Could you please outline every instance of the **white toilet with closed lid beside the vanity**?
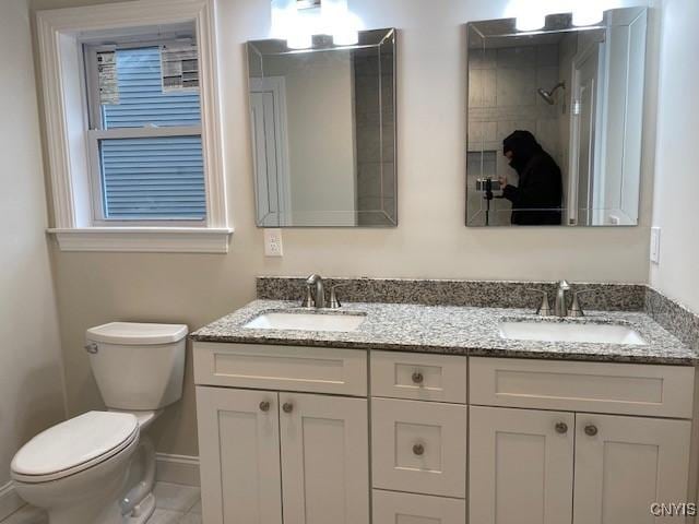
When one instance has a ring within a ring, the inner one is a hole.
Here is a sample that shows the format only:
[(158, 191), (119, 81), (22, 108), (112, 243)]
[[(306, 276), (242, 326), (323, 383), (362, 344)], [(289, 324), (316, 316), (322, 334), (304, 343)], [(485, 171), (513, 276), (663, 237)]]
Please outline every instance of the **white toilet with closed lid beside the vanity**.
[(187, 333), (181, 324), (129, 322), (87, 330), (85, 349), (108, 410), (37, 434), (11, 466), (17, 493), (46, 509), (49, 524), (142, 524), (151, 516), (155, 452), (142, 431), (181, 397)]

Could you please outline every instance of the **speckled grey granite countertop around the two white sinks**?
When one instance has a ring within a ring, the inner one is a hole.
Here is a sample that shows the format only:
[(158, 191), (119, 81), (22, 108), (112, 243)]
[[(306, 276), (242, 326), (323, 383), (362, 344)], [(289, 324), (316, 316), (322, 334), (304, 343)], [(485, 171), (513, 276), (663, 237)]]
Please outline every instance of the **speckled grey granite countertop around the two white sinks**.
[[(661, 327), (648, 314), (589, 311), (584, 318), (537, 317), (531, 310), (419, 306), (411, 303), (345, 303), (340, 310), (317, 314), (364, 314), (356, 331), (258, 330), (244, 325), (271, 311), (313, 312), (297, 301), (254, 300), (191, 334), (198, 342), (283, 344), (360, 349), (383, 349), (446, 355), (519, 357), (694, 366), (699, 355)], [(500, 321), (579, 322), (624, 324), (636, 330), (647, 345), (559, 343), (505, 340)]]

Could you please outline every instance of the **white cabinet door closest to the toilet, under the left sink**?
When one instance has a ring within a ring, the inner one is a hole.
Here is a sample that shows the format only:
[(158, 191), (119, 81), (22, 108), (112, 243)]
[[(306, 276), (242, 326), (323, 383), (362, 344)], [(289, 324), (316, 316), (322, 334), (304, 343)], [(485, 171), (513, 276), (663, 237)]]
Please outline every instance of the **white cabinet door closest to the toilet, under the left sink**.
[(279, 395), (197, 388), (203, 522), (282, 524)]

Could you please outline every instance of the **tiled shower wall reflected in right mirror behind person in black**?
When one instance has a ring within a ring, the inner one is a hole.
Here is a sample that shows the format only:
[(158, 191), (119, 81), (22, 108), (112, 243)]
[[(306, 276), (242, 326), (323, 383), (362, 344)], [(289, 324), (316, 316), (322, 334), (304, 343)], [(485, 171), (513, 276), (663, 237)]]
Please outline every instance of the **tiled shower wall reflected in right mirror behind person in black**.
[[(517, 174), (502, 156), (502, 140), (512, 131), (531, 131), (559, 164), (564, 154), (559, 139), (559, 117), (562, 114), (562, 93), (550, 106), (536, 91), (550, 90), (558, 83), (558, 47), (530, 46), (503, 49), (470, 50), (469, 57), (469, 151), (496, 151), (496, 175), (506, 176), (517, 184)], [(473, 156), (473, 155), (471, 155)], [(474, 191), (481, 174), (470, 169), (469, 210), (484, 207), (482, 195)], [(495, 200), (490, 223), (509, 224), (509, 201)], [(485, 223), (482, 216), (479, 223)], [(478, 223), (474, 224), (478, 225)]]

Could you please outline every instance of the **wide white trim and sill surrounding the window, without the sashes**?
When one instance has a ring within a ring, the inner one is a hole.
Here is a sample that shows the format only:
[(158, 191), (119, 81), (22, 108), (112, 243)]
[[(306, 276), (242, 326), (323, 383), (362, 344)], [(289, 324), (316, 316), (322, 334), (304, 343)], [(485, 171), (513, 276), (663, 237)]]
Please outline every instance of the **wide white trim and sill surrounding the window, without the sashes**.
[[(55, 234), (61, 250), (228, 251), (214, 0), (138, 0), (39, 11), (36, 16), (44, 84), (46, 140)], [(93, 227), (88, 107), (81, 38), (91, 32), (194, 22), (201, 78), (202, 150), (206, 183), (203, 227)]]

